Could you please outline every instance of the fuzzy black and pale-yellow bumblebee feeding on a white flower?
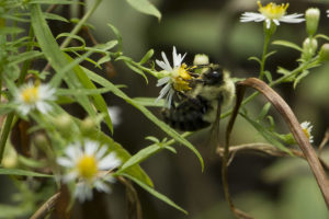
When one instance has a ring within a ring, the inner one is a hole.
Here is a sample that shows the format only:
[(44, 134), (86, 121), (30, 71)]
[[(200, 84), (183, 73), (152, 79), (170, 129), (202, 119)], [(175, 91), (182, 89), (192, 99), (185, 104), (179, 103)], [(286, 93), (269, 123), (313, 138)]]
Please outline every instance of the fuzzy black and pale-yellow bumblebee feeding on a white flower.
[[(170, 108), (163, 108), (163, 120), (174, 129), (194, 131), (212, 124), (217, 125), (220, 108), (235, 95), (235, 84), (229, 72), (218, 65), (202, 65), (190, 68), (191, 90), (177, 92)], [(196, 73), (202, 70), (201, 73)]]

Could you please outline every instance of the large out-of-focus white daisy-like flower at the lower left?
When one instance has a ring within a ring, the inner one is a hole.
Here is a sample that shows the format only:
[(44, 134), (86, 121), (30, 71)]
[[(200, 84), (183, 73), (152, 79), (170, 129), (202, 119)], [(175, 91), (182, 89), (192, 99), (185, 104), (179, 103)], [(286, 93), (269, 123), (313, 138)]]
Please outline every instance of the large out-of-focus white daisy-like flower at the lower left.
[(64, 183), (76, 182), (73, 196), (79, 201), (92, 198), (92, 189), (110, 193), (106, 183), (113, 183), (114, 177), (109, 174), (113, 169), (121, 165), (122, 161), (114, 152), (106, 154), (107, 147), (93, 140), (83, 140), (69, 145), (65, 155), (57, 159), (57, 163), (68, 169), (63, 176)]

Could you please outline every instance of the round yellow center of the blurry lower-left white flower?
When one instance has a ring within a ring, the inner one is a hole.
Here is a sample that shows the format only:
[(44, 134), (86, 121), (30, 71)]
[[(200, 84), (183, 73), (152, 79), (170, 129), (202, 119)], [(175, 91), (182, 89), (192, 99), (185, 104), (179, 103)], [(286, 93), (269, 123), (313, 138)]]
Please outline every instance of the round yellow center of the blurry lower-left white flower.
[(79, 175), (92, 180), (98, 173), (98, 162), (93, 155), (83, 154), (78, 161)]

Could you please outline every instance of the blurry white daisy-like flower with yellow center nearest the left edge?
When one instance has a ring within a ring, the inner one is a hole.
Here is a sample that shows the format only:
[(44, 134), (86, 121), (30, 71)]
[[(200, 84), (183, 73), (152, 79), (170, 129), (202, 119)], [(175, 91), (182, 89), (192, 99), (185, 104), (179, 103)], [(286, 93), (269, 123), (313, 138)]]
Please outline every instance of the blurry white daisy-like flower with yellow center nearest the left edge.
[(48, 84), (36, 84), (29, 82), (15, 91), (14, 103), (19, 113), (27, 115), (31, 111), (37, 110), (43, 114), (52, 110), (48, 101), (55, 101), (56, 89)]

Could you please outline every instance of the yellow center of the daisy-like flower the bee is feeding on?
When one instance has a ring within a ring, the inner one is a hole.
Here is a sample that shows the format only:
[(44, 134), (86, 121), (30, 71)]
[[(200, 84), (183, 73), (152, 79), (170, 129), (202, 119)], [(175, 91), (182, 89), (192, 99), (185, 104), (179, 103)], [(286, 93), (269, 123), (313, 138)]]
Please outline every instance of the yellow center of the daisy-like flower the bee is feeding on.
[(188, 91), (191, 90), (189, 80), (192, 79), (189, 71), (186, 70), (188, 66), (182, 64), (181, 67), (177, 70), (177, 76), (173, 77), (173, 89), (177, 91)]

